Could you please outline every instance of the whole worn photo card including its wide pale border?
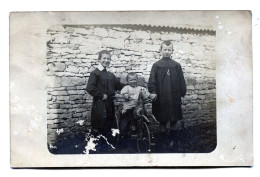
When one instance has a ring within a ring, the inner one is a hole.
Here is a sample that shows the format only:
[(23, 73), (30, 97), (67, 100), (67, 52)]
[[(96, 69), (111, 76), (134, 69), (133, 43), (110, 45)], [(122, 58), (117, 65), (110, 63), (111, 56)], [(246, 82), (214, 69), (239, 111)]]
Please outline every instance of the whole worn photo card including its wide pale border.
[(11, 166), (252, 165), (251, 20), (10, 13)]

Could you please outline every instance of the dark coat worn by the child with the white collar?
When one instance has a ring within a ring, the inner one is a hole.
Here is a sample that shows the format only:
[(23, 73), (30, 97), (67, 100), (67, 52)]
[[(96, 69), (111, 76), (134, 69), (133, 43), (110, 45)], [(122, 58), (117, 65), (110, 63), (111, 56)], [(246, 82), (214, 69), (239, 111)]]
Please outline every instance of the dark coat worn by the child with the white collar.
[[(123, 85), (114, 74), (95, 69), (90, 73), (87, 92), (93, 96), (91, 108), (91, 125), (93, 129), (109, 129), (114, 121), (115, 110), (113, 96)], [(106, 94), (108, 98), (103, 99)]]

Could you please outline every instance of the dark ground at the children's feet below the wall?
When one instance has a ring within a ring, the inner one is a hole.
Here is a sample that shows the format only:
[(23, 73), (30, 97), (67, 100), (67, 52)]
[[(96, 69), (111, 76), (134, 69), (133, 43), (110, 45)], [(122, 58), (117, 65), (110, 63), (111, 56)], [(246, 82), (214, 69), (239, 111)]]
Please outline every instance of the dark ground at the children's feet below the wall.
[[(209, 153), (217, 145), (216, 124), (203, 124), (172, 131), (171, 134), (152, 132), (152, 146), (149, 152), (142, 153)], [(89, 154), (128, 154), (139, 153), (135, 139), (116, 143), (113, 138), (98, 137), (93, 141), (96, 146)], [(53, 154), (84, 154), (90, 139), (78, 134), (76, 138), (48, 146)], [(92, 144), (93, 145), (93, 144)], [(89, 147), (89, 146), (88, 146)], [(93, 147), (93, 146), (92, 146)]]

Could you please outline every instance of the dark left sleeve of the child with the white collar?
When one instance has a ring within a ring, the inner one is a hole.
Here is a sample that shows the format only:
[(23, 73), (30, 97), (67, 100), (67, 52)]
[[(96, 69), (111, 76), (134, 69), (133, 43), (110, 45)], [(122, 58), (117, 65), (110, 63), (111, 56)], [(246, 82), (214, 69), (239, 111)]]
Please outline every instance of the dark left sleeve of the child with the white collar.
[(94, 72), (90, 73), (88, 84), (87, 84), (87, 92), (96, 98), (103, 98), (103, 93), (100, 92), (97, 88), (98, 75)]

